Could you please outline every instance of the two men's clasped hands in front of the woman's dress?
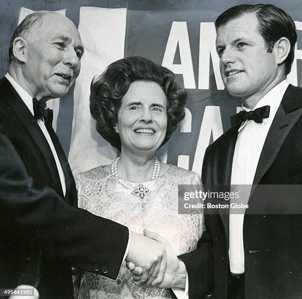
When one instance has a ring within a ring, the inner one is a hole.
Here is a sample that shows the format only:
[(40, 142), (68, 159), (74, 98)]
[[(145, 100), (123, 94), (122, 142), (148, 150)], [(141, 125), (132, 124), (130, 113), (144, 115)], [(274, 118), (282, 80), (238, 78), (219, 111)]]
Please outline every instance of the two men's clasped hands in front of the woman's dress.
[(155, 232), (145, 229), (142, 235), (131, 231), (130, 247), (125, 260), (136, 285), (186, 287), (185, 264), (177, 258), (170, 243)]

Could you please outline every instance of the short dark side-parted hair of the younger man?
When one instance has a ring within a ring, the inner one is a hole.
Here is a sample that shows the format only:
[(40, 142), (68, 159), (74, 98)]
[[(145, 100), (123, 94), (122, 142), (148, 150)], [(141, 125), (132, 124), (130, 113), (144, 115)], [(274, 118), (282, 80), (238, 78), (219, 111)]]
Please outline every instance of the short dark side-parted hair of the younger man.
[(295, 57), (297, 41), (296, 26), (293, 19), (281, 8), (273, 4), (241, 4), (233, 6), (223, 12), (215, 21), (216, 30), (228, 21), (241, 17), (245, 13), (256, 13), (259, 31), (265, 40), (267, 52), (271, 53), (275, 42), (286, 37), (290, 41), (291, 50), (284, 60), (285, 74), (291, 72)]

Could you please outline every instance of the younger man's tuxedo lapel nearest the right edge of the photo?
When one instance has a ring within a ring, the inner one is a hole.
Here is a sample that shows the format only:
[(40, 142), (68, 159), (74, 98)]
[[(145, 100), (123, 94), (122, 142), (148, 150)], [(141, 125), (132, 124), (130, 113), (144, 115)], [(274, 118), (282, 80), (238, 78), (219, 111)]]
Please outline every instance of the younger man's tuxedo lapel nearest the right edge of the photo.
[[(268, 131), (256, 169), (253, 185), (258, 185), (276, 159), (287, 135), (302, 115), (301, 91), (289, 85)], [(252, 189), (250, 198), (254, 191)]]

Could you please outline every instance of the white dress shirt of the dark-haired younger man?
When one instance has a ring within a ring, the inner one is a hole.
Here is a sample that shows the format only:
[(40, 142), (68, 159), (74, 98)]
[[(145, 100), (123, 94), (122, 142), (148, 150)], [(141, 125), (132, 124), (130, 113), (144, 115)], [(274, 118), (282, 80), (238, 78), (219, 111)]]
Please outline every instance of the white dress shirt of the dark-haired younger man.
[[(269, 105), (269, 117), (264, 118), (262, 123), (246, 120), (238, 129), (232, 163), (231, 185), (248, 185), (246, 187), (248, 192), (245, 193), (247, 195), (246, 201), (250, 195), (264, 141), (288, 85), (289, 83), (283, 80), (254, 107), (253, 110)], [(244, 106), (243, 110), (250, 111)], [(230, 271), (235, 274), (244, 273), (243, 220), (244, 214), (230, 213), (229, 215), (229, 266)]]

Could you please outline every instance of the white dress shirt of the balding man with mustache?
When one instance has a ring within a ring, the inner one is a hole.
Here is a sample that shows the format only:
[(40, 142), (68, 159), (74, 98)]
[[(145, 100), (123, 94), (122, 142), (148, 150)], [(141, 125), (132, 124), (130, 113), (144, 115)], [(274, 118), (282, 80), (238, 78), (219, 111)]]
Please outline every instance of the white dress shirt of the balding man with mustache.
[[(20, 98), (25, 103), (25, 105), (27, 106), (29, 111), (34, 115), (33, 97), (30, 96), (8, 73), (5, 75), (5, 77), (10, 82), (10, 84), (13, 86), (13, 88), (16, 90), (16, 92), (19, 94)], [(48, 133), (46, 127), (45, 127), (43, 118), (38, 119), (37, 122), (38, 122), (38, 125), (39, 125), (40, 129), (42, 130), (48, 144), (49, 144), (49, 147), (52, 151), (53, 157), (56, 161), (56, 165), (57, 165), (57, 168), (58, 168), (60, 181), (61, 181), (61, 185), (62, 185), (63, 194), (65, 196), (65, 194), (66, 194), (66, 181), (65, 181), (65, 176), (64, 176), (62, 166), (61, 166), (59, 158), (58, 158), (58, 154), (57, 154), (57, 152), (56, 152), (56, 150), (53, 146), (53, 143), (51, 141), (49, 133)]]

